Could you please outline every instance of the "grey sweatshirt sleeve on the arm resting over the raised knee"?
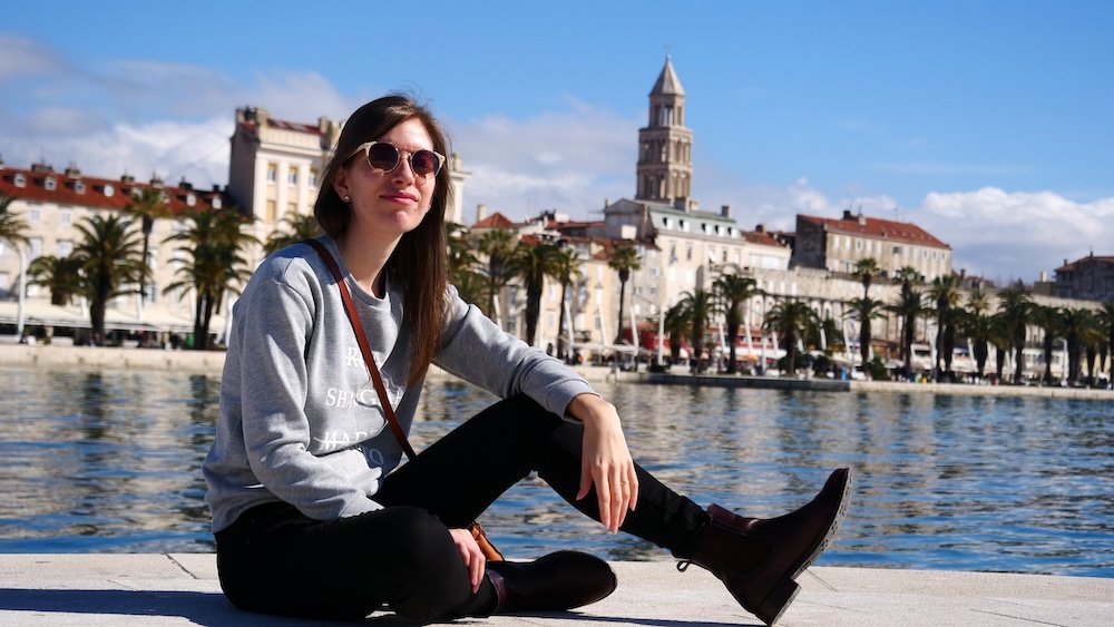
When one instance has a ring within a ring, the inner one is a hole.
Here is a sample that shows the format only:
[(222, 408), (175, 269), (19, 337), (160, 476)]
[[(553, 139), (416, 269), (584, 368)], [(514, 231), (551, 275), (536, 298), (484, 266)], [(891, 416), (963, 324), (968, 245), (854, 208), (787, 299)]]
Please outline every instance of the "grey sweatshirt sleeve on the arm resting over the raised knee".
[(539, 349), (499, 329), (455, 287), (446, 301), (443, 343), (433, 362), (500, 398), (526, 394), (553, 413), (565, 415), (579, 394), (594, 394), (587, 381)]

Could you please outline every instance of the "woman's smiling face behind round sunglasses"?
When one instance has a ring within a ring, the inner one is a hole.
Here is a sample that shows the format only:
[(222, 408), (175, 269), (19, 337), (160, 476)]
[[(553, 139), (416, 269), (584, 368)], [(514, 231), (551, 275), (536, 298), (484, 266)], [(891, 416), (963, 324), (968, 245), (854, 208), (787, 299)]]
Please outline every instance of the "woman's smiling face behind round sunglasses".
[(409, 157), (417, 150), (432, 150), (433, 140), (418, 118), (403, 120), (373, 139), (399, 149), (398, 167), (388, 173), (374, 169), (361, 150), (336, 174), (333, 188), (341, 198), (351, 197), (353, 235), (397, 239), (421, 224), (429, 212), (436, 177), (416, 175)]

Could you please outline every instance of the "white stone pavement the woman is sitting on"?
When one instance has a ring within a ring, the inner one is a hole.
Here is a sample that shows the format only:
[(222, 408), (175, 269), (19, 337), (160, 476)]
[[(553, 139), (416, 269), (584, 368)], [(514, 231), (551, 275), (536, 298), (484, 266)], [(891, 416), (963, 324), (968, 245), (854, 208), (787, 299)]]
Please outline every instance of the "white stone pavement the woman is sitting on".
[[(579, 610), (457, 625), (701, 627), (760, 625), (711, 575), (674, 564), (613, 562), (619, 587)], [(814, 567), (779, 625), (1114, 625), (1114, 579)], [(389, 613), (372, 624), (399, 624)], [(312, 625), (253, 615), (221, 594), (211, 553), (0, 555), (0, 626)]]

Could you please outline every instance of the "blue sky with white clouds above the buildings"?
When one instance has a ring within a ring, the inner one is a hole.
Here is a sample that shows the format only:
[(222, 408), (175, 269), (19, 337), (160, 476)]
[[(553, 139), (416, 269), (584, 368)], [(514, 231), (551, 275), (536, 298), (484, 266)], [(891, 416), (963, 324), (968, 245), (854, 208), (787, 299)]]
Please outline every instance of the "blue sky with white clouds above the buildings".
[(0, 155), (223, 185), (237, 106), (342, 119), (402, 89), (449, 127), (469, 213), (595, 219), (634, 194), (668, 51), (693, 195), (745, 228), (861, 208), (997, 281), (1114, 254), (1111, 2), (321, 7), (6, 7)]

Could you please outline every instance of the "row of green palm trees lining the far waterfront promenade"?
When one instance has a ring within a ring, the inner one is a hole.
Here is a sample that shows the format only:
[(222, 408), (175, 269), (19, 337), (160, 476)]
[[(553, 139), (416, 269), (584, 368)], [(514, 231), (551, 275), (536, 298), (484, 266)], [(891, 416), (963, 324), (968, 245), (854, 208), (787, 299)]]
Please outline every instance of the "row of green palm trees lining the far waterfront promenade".
[[(9, 212), (13, 198), (0, 197), (0, 242), (12, 245), (27, 244), (27, 224)], [(28, 273), (31, 283), (50, 290), (56, 305), (71, 304), (85, 298), (89, 306), (92, 339), (105, 336), (105, 312), (108, 303), (118, 296), (144, 294), (150, 282), (150, 268), (145, 263), (150, 248), (150, 236), (156, 219), (174, 217), (184, 228), (164, 239), (174, 243), (176, 259), (175, 281), (163, 287), (163, 293), (192, 291), (194, 302), (194, 347), (209, 347), (209, 323), (221, 313), (227, 294), (237, 294), (251, 275), (244, 251), (251, 245), (263, 245), (265, 253), (273, 253), (286, 245), (320, 233), (312, 215), (291, 214), (283, 218), (265, 243), (258, 242), (247, 231), (251, 218), (235, 207), (204, 208), (182, 212), (170, 216), (162, 193), (144, 189), (133, 197), (123, 214), (96, 214), (77, 225), (80, 241), (66, 257), (40, 256), (31, 262)], [(460, 296), (502, 323), (506, 303), (498, 302), (508, 285), (521, 286), (526, 294), (524, 340), (534, 344), (541, 313), (541, 295), (546, 280), (561, 286), (558, 322), (557, 355), (569, 357), (573, 321), (568, 320), (569, 292), (578, 283), (584, 262), (576, 249), (561, 242), (549, 242), (531, 236), (519, 237), (510, 229), (491, 229), (478, 237), (470, 237), (461, 225), (447, 224), (450, 281)], [(607, 253), (607, 265), (619, 280), (619, 303), (616, 319), (615, 343), (624, 341), (626, 285), (633, 272), (641, 270), (641, 258), (633, 246), (618, 245)], [(1104, 303), (1098, 310), (1087, 307), (1049, 307), (1032, 298), (1018, 282), (999, 290), (996, 297), (979, 290), (964, 291), (957, 275), (939, 276), (926, 282), (912, 267), (898, 270), (891, 282), (899, 286), (892, 302), (870, 296), (870, 287), (882, 273), (876, 259), (859, 262), (854, 275), (863, 286), (862, 296), (848, 302), (847, 316), (859, 323), (859, 351), (864, 368), (870, 368), (870, 346), (873, 340), (871, 322), (887, 315), (901, 321), (900, 350), (903, 370), (913, 370), (916, 329), (922, 320), (936, 325), (936, 360), (931, 378), (936, 381), (954, 380), (952, 354), (958, 339), (970, 342), (970, 352), (978, 376), (985, 376), (989, 347), (995, 347), (995, 372), (999, 380), (1007, 354), (1013, 354), (1014, 381), (1022, 381), (1023, 350), (1027, 329), (1043, 331), (1045, 372), (1043, 380), (1052, 382), (1052, 355), (1055, 342), (1066, 343), (1067, 380), (1075, 384), (1093, 381), (1096, 364), (1105, 363), (1114, 354), (1114, 302)], [(682, 345), (691, 346), (696, 368), (707, 344), (709, 330), (721, 320), (729, 352), (726, 373), (736, 372), (735, 337), (745, 323), (745, 307), (755, 296), (766, 295), (750, 276), (729, 266), (712, 282), (709, 290), (684, 292), (677, 303), (659, 313), (665, 319), (662, 327), (670, 340), (673, 362), (680, 360)], [(844, 340), (840, 324), (821, 319), (807, 302), (798, 298), (775, 297), (775, 303), (763, 315), (762, 332), (775, 334), (785, 351), (784, 371), (795, 372), (799, 351), (810, 347), (827, 356), (842, 351)], [(996, 301), (996, 306), (991, 306)], [(632, 329), (632, 333), (637, 330)], [(873, 360), (877, 368), (878, 360)], [(1084, 374), (1084, 370), (1086, 373)], [(881, 373), (877, 373), (881, 374)]]

